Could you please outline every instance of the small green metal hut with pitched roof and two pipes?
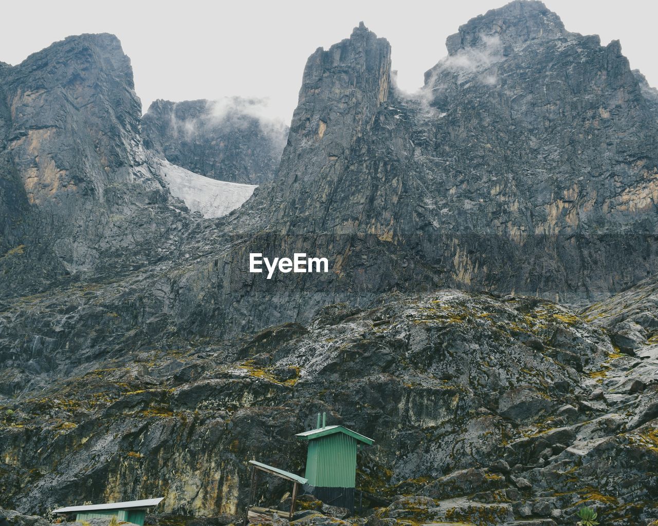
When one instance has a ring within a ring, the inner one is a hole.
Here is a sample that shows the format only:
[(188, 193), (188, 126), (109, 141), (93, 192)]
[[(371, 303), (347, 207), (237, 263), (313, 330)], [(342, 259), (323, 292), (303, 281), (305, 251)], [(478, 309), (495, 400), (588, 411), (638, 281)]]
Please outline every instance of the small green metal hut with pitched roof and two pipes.
[(332, 506), (354, 510), (357, 478), (357, 450), (361, 444), (373, 444), (372, 439), (342, 425), (326, 425), (326, 414), (318, 414), (318, 427), (295, 435), (309, 442), (305, 477), (307, 491)]

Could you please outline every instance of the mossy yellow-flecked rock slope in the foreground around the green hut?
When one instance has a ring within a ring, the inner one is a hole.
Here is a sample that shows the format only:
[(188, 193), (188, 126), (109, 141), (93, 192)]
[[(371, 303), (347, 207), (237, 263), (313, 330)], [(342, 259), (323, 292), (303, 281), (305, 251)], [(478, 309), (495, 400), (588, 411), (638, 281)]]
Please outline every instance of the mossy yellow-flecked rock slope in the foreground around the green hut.
[(358, 485), (379, 519), (572, 524), (588, 504), (605, 524), (647, 524), (658, 356), (643, 345), (620, 354), (607, 331), (545, 300), (449, 290), (328, 306), (309, 325), (230, 343), (172, 335), (43, 389), (14, 384), (2, 504), (162, 494), (161, 512), (236, 515), (245, 462), (301, 471), (293, 435), (324, 410), (376, 441)]

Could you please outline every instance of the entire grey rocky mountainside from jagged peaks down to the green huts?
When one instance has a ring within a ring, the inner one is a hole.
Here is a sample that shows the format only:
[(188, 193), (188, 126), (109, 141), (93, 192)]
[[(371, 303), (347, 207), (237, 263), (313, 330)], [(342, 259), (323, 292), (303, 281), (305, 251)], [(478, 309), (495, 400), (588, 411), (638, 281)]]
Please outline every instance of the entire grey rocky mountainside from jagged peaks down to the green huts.
[(534, 1), (447, 51), (403, 93), (364, 24), (318, 49), (261, 172), (257, 120), (142, 119), (116, 37), (0, 65), (0, 506), (235, 521), (326, 411), (368, 511), (300, 526), (658, 519), (656, 91)]

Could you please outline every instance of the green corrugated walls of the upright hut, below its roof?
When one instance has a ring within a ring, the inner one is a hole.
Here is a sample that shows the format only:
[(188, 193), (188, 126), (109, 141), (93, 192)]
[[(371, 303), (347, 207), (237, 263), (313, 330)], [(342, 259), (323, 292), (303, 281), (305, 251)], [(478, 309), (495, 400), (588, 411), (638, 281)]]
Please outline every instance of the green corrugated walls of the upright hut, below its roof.
[(357, 441), (334, 433), (309, 441), (306, 478), (316, 487), (353, 488), (357, 474)]

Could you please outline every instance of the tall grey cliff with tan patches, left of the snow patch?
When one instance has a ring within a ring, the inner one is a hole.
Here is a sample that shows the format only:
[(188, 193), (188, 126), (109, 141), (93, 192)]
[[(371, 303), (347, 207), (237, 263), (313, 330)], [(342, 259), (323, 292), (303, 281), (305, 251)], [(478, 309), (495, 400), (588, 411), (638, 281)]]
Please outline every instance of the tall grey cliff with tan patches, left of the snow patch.
[(147, 166), (118, 39), (68, 37), (1, 74), (3, 221), (13, 225), (3, 226), (3, 293), (157, 260), (181, 219)]

